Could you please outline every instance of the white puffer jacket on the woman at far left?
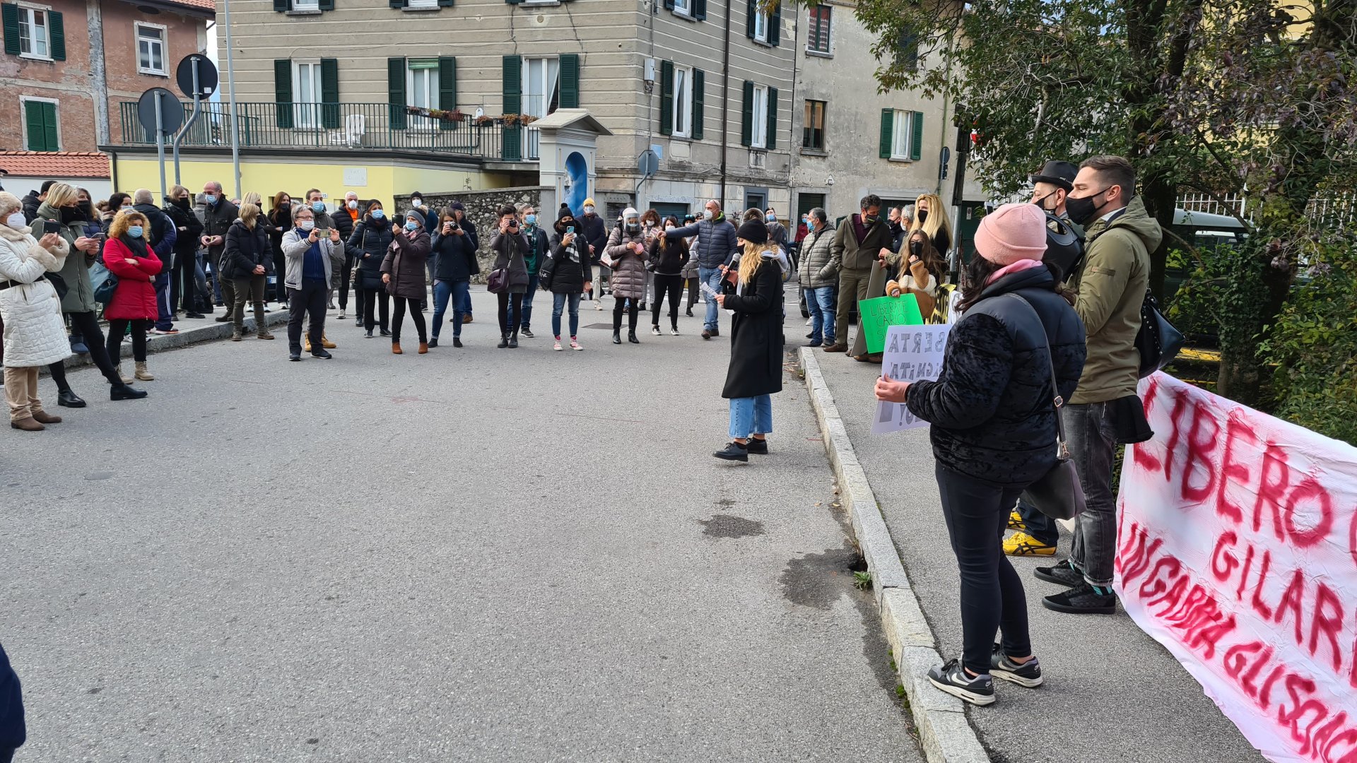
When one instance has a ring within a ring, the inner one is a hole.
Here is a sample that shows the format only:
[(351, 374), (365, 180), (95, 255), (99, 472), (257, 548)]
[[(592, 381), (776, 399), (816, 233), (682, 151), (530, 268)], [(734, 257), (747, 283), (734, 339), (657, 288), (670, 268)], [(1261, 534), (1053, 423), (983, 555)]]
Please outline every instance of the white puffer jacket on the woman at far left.
[[(4, 319), (4, 365), (47, 365), (71, 356), (61, 299), (46, 273), (66, 262), (65, 239), (56, 253), (38, 246), (28, 228), (0, 224), (0, 319)], [(39, 280), (41, 278), (41, 280)]]

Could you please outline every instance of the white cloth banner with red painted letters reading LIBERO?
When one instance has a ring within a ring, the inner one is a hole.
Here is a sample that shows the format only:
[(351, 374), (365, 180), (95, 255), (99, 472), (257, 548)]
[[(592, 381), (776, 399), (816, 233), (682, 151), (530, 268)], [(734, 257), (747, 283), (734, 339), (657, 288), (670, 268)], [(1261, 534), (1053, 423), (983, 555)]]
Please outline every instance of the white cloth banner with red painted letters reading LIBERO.
[(1274, 762), (1357, 762), (1357, 448), (1166, 373), (1126, 448), (1126, 612)]

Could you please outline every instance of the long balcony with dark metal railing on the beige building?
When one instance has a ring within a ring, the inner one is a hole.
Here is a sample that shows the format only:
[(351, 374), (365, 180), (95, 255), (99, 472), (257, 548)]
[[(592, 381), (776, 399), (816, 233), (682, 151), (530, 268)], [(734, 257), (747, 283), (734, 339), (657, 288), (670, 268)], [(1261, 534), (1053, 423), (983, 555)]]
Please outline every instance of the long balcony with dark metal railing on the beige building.
[[(185, 121), (191, 111), (193, 105), (185, 103)], [(389, 103), (237, 102), (236, 119), (243, 149), (373, 149), (491, 162), (520, 162), (525, 155), (536, 159), (532, 128), (456, 111), (430, 113)], [(155, 145), (155, 136), (137, 121), (136, 102), (118, 105), (118, 121), (122, 145)], [(229, 149), (231, 140), (229, 105), (202, 103), (202, 114), (179, 145)]]

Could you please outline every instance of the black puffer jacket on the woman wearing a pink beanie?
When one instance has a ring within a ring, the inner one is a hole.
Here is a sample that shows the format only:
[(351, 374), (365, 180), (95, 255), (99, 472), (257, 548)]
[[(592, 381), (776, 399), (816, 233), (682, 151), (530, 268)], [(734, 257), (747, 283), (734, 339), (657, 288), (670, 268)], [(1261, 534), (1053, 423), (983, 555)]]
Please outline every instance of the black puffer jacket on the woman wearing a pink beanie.
[[(909, 413), (932, 424), (938, 463), (1001, 487), (1026, 487), (1056, 463), (1050, 357), (1067, 401), (1084, 368), (1084, 324), (1045, 267), (1004, 276), (953, 327), (936, 382), (909, 386)], [(1019, 293), (1037, 310), (1006, 293)], [(1044, 337), (1045, 334), (1046, 337)]]

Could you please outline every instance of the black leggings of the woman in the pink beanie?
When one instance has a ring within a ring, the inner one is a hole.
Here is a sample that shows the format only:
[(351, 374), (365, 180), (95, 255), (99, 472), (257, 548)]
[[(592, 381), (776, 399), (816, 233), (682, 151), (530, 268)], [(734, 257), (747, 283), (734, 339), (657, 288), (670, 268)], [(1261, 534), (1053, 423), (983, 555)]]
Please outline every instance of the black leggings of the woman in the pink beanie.
[(1008, 512), (1022, 490), (991, 487), (942, 464), (935, 471), (942, 515), (961, 570), (962, 664), (973, 673), (988, 673), (1000, 629), (1004, 653), (1031, 654), (1027, 595), (1003, 548)]

